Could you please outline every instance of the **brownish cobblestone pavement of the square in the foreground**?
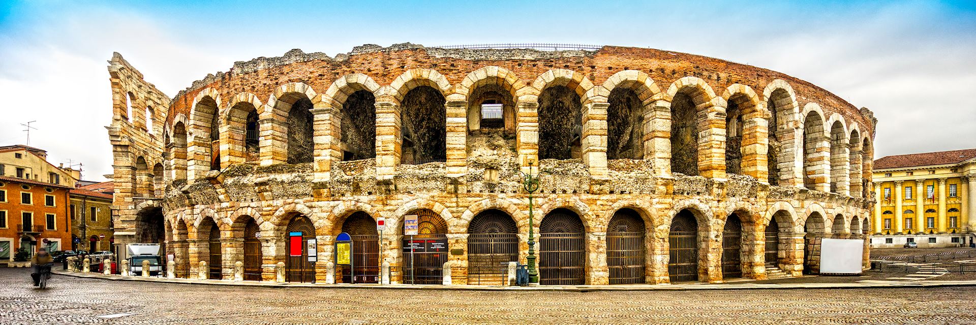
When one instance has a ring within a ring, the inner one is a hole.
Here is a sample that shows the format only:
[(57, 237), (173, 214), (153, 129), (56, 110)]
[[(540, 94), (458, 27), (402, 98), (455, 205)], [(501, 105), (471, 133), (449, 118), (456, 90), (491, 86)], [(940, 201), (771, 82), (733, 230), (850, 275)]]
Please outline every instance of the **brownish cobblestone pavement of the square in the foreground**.
[[(0, 324), (962, 324), (976, 287), (468, 292), (107, 281), (0, 268)], [(131, 313), (118, 318), (100, 315)]]

